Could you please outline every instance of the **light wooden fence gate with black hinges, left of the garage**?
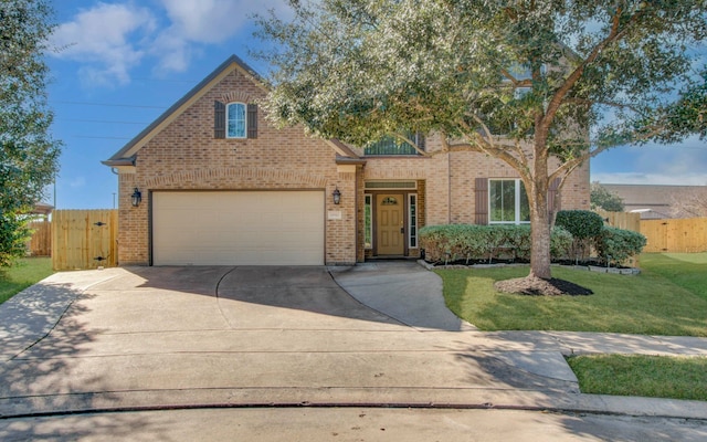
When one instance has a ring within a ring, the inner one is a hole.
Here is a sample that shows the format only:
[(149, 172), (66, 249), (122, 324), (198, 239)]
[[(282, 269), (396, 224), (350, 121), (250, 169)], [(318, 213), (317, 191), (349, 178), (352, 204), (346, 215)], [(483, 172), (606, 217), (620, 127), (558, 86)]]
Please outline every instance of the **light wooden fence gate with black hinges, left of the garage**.
[(117, 210), (54, 210), (52, 266), (86, 270), (117, 265)]

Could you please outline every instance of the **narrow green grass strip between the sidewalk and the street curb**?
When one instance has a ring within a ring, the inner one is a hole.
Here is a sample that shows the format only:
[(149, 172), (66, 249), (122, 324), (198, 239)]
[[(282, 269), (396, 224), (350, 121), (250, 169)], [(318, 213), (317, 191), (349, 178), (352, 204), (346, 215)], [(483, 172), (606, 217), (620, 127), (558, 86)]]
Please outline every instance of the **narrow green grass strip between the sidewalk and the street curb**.
[(572, 356), (567, 359), (582, 392), (707, 400), (707, 358)]

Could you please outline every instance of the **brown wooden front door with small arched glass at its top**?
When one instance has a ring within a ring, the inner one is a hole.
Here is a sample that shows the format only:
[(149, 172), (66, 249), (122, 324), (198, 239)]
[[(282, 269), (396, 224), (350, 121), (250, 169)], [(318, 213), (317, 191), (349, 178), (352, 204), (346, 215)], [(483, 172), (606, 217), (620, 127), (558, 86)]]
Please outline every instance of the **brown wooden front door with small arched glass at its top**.
[(404, 196), (378, 194), (376, 197), (377, 242), (379, 255), (404, 253)]

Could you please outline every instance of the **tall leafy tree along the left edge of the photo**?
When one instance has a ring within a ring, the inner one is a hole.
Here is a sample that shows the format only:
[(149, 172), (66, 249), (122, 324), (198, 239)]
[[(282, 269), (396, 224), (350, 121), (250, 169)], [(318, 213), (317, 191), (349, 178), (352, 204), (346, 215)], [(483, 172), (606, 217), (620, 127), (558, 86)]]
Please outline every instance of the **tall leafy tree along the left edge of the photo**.
[(57, 167), (44, 62), (49, 0), (0, 0), (0, 266), (24, 252), (27, 213)]

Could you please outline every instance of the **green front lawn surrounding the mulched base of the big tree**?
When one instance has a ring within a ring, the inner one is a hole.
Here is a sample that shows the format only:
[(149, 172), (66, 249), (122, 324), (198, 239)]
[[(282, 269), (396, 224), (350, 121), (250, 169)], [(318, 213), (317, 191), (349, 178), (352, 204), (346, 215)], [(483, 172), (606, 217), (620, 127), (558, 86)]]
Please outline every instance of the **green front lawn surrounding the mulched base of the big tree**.
[(483, 330), (566, 330), (707, 337), (707, 253), (641, 256), (637, 276), (553, 267), (590, 296), (498, 293), (494, 282), (528, 267), (437, 270), (457, 316)]

